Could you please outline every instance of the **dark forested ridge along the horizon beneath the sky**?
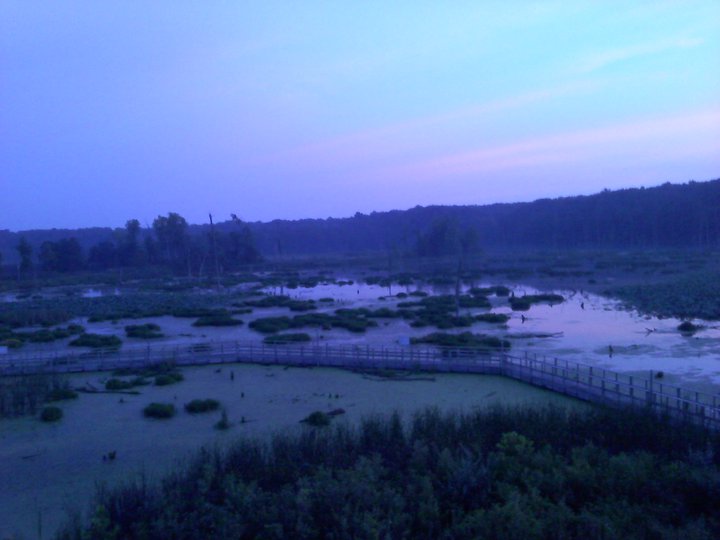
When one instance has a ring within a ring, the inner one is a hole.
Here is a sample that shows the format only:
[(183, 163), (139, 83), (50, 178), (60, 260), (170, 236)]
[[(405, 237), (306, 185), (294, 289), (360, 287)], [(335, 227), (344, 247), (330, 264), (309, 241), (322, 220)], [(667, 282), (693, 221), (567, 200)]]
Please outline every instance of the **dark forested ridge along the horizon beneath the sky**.
[[(720, 179), (487, 206), (429, 206), (351, 218), (190, 225), (169, 213), (152, 226), (0, 231), (0, 264), (71, 272), (163, 264), (211, 273), (272, 257), (471, 249), (720, 246)], [(7, 274), (6, 270), (6, 274)]]

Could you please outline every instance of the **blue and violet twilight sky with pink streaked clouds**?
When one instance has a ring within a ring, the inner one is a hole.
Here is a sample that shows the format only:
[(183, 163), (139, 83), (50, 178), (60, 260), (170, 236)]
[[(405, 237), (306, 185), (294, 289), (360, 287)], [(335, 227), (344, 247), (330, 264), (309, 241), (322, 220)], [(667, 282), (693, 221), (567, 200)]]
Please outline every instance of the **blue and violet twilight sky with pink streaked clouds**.
[(0, 0), (0, 229), (718, 177), (718, 0)]

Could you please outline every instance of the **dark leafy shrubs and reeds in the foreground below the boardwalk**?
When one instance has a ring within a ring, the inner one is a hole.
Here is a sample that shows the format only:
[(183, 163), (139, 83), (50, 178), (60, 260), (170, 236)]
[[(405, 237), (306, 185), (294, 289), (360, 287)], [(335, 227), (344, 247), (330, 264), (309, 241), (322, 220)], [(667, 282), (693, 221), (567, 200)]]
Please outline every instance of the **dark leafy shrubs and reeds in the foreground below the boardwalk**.
[(717, 434), (645, 411), (371, 417), (100, 490), (58, 538), (720, 537)]

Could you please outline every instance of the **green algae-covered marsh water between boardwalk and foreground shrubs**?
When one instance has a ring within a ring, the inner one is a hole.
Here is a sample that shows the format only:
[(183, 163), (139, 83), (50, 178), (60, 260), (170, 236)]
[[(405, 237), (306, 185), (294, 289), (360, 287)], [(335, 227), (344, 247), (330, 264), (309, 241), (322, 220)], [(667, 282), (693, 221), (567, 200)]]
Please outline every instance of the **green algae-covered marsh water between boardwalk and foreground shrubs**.
[[(392, 411), (407, 417), (423, 407), (584, 406), (503, 377), (480, 375), (382, 380), (336, 369), (246, 364), (183, 373), (182, 383), (142, 387), (139, 395), (81, 394), (59, 403), (64, 416), (56, 424), (32, 417), (0, 422), (0, 538), (18, 532), (37, 538), (39, 525), (48, 538), (69, 513), (88, 509), (99, 485), (153, 481), (203, 445), (222, 448), (241, 436), (312, 429), (299, 421), (315, 410), (342, 408), (346, 412), (333, 422), (352, 423)], [(101, 386), (109, 376), (73, 375), (72, 385)], [(182, 410), (184, 403), (205, 398), (217, 399), (227, 409), (233, 424), (229, 430), (213, 428), (218, 412), (192, 415)], [(178, 413), (169, 420), (143, 418), (142, 409), (150, 402), (174, 403)], [(103, 460), (112, 451), (117, 457)]]

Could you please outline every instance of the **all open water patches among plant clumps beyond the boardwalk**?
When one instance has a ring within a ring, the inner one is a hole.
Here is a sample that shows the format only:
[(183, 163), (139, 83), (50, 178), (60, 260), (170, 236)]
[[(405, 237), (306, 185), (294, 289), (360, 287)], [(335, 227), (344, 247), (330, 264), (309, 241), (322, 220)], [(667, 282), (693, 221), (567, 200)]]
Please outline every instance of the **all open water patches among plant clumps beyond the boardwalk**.
[[(344, 280), (350, 284), (321, 283), (315, 287), (269, 287), (267, 294), (285, 294), (297, 300), (320, 300), (332, 298), (332, 303), (318, 302), (319, 313), (332, 313), (339, 308), (397, 308), (403, 301), (418, 300), (404, 297), (413, 291), (431, 295), (454, 294), (453, 286), (410, 285), (391, 287), (368, 285), (360, 281)], [(476, 283), (487, 287), (493, 283)], [(471, 328), (455, 328), (446, 332), (472, 331), (509, 339), (513, 354), (537, 354), (557, 357), (573, 362), (586, 363), (617, 371), (647, 373), (662, 371), (669, 382), (702, 386), (703, 390), (717, 391), (720, 384), (720, 323), (717, 321), (694, 321), (702, 329), (684, 334), (677, 327), (675, 318), (658, 318), (642, 315), (607, 297), (582, 290), (563, 288), (542, 291), (523, 285), (508, 284), (512, 294), (523, 296), (538, 292), (562, 295), (565, 301), (558, 304), (533, 304), (528, 311), (512, 311), (506, 297), (490, 296), (491, 309), (462, 309), (464, 314), (480, 314), (489, 311), (510, 316), (506, 324), (477, 322)], [(463, 292), (470, 287), (464, 285)], [(108, 290), (105, 294), (116, 294)], [(397, 295), (400, 294), (400, 297)], [(74, 322), (83, 324), (88, 332), (115, 334), (124, 341), (123, 347), (172, 346), (198, 341), (243, 341), (260, 343), (263, 335), (248, 328), (247, 323), (260, 317), (292, 316), (296, 313), (283, 307), (255, 308), (251, 314), (239, 315), (246, 324), (241, 327), (202, 327), (192, 325), (194, 319), (171, 316), (137, 319), (132, 321), (103, 321), (89, 323), (86, 319)], [(125, 324), (153, 322), (158, 324), (165, 337), (151, 342), (125, 338)], [(378, 326), (365, 333), (352, 333), (344, 329), (299, 329), (307, 332), (313, 343), (393, 346), (406, 344), (412, 337), (420, 337), (437, 331), (434, 327), (413, 328), (401, 318), (377, 319)], [(23, 350), (58, 350), (66, 347), (69, 340), (51, 344), (27, 344)]]

